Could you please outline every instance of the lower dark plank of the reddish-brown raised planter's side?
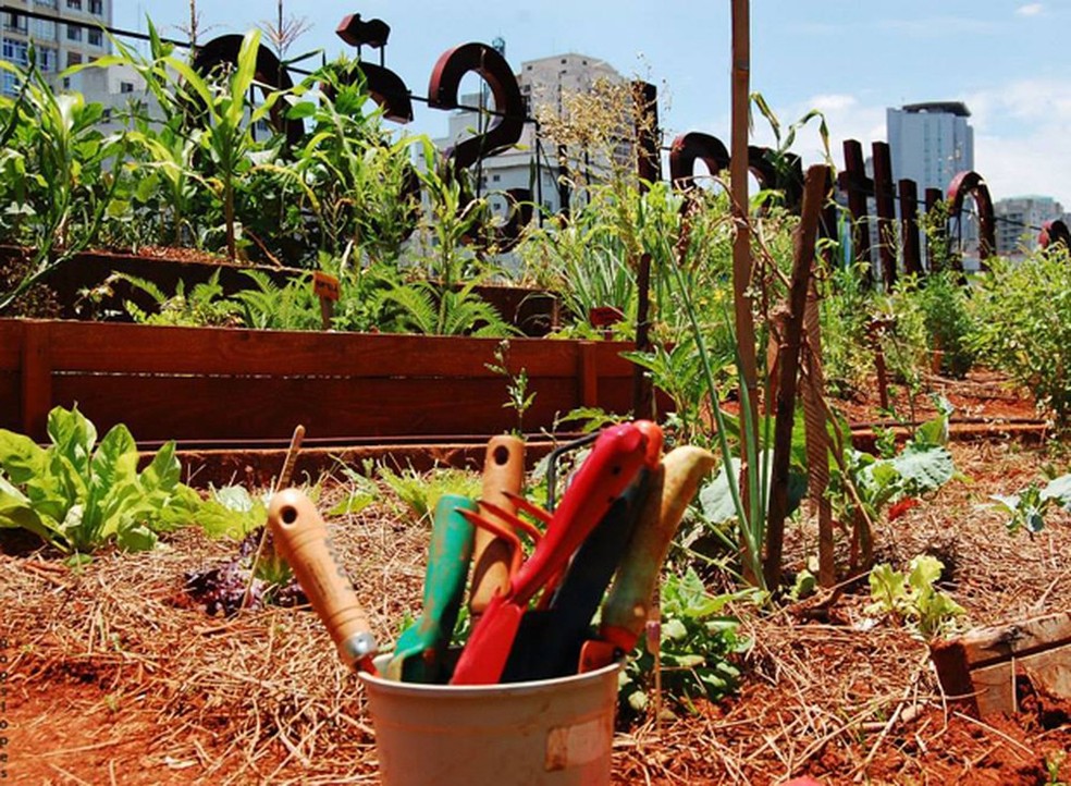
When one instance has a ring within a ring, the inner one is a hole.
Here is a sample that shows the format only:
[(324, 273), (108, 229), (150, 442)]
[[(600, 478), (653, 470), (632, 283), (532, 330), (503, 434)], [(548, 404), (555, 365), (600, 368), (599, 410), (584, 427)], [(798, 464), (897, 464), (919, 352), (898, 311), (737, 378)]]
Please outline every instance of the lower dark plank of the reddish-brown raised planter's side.
[[(516, 426), (505, 380), (237, 379), (59, 376), (54, 398), (75, 401), (103, 433), (124, 422), (138, 440), (493, 434)], [(573, 379), (536, 380), (525, 428), (550, 429), (577, 405)]]

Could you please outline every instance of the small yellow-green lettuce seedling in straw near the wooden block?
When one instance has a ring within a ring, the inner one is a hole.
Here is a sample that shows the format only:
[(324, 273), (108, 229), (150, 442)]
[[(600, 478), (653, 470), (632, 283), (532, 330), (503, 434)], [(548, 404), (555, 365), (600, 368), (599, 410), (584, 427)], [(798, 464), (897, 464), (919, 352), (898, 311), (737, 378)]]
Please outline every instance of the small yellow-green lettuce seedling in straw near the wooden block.
[(889, 565), (875, 565), (870, 574), (867, 614), (888, 614), (923, 639), (955, 631), (967, 613), (952, 598), (934, 587), (945, 566), (921, 555), (911, 561), (907, 575)]

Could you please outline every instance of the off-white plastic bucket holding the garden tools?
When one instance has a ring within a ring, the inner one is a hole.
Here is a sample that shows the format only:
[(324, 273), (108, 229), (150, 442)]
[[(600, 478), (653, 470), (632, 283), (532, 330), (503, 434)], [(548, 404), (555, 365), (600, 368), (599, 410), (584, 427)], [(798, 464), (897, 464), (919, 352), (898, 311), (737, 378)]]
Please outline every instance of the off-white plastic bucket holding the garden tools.
[(608, 786), (619, 670), (473, 686), (362, 673), (383, 786)]

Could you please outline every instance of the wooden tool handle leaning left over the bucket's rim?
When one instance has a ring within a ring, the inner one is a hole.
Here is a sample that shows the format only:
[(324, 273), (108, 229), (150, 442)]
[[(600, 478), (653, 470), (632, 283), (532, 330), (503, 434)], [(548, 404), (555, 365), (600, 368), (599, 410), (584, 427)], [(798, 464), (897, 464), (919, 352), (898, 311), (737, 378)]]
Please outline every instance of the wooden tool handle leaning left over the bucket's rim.
[(338, 655), (350, 667), (370, 671), (376, 638), (316, 505), (301, 491), (283, 489), (272, 495), (268, 526)]

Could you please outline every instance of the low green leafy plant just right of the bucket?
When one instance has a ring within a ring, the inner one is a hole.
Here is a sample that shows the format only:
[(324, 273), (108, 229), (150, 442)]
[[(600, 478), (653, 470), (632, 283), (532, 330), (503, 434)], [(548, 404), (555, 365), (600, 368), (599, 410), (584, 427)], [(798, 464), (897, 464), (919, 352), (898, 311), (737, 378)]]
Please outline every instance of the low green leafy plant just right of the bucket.
[[(740, 672), (733, 656), (750, 642), (739, 635), (739, 619), (725, 614), (734, 602), (752, 602), (753, 591), (712, 595), (689, 568), (669, 574), (662, 588), (662, 689), (673, 703), (690, 707), (695, 698), (721, 699), (736, 689)], [(648, 708), (654, 656), (643, 650), (627, 662), (619, 681), (623, 707)]]

